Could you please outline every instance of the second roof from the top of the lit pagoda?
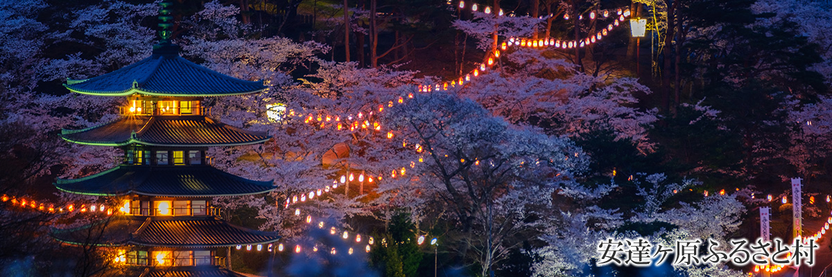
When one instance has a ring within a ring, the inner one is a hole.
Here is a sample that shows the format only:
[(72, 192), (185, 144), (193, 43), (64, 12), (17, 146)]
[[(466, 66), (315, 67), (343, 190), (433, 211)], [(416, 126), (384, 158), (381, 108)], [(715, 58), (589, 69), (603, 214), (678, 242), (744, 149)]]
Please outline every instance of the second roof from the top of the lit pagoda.
[(241, 146), (268, 141), (271, 136), (206, 116), (123, 116), (82, 130), (62, 130), (61, 137), (93, 146)]

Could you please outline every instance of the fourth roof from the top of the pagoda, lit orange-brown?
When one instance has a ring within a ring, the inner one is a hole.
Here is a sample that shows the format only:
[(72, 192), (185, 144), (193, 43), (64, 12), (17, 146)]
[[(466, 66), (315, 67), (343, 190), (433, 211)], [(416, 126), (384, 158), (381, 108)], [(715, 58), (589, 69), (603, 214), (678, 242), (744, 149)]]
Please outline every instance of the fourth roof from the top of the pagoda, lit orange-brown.
[[(89, 239), (91, 233), (102, 234), (101, 239)], [(277, 232), (249, 230), (213, 216), (116, 215), (74, 229), (54, 230), (51, 235), (56, 240), (71, 245), (178, 248), (261, 245), (280, 239)]]

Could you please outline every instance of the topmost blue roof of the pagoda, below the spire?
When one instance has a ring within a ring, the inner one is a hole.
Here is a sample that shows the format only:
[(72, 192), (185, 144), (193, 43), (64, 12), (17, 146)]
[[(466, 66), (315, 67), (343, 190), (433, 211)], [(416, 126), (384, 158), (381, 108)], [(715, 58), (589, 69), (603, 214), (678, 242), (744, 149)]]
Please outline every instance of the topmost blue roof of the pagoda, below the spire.
[(97, 96), (230, 96), (266, 89), (263, 82), (240, 80), (190, 62), (179, 55), (176, 45), (154, 50), (151, 57), (99, 77), (67, 79), (63, 86)]

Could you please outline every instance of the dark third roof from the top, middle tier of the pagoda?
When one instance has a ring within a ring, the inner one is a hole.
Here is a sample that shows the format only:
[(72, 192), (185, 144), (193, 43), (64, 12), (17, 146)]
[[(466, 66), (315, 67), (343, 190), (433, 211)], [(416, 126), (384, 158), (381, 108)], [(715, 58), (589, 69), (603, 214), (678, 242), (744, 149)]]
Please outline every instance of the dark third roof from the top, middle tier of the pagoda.
[(213, 166), (121, 165), (79, 179), (58, 179), (58, 190), (80, 195), (208, 197), (254, 195), (275, 190), (272, 181), (253, 181)]

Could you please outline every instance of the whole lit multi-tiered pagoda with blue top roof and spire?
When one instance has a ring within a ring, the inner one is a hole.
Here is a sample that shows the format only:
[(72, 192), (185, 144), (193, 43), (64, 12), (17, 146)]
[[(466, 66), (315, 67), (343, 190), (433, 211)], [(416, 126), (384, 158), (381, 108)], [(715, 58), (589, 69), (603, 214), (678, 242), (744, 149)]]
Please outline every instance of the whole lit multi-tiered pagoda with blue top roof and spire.
[[(106, 228), (95, 223), (52, 235), (68, 244), (116, 248), (116, 262), (130, 269), (126, 275), (239, 276), (222, 267), (226, 261), (216, 250), (270, 244), (279, 236), (226, 223), (211, 206), (211, 197), (262, 194), (275, 187), (271, 181), (252, 181), (215, 169), (206, 150), (262, 143), (270, 136), (214, 121), (200, 103), (204, 97), (257, 93), (266, 87), (182, 58), (180, 47), (170, 42), (169, 6), (161, 3), (161, 39), (151, 57), (64, 85), (82, 94), (127, 97), (116, 121), (62, 131), (67, 141), (121, 148), (121, 165), (55, 183), (59, 190), (73, 194), (116, 197), (121, 206), (115, 217), (106, 220)], [(94, 228), (102, 228), (102, 235), (91, 241)]]

